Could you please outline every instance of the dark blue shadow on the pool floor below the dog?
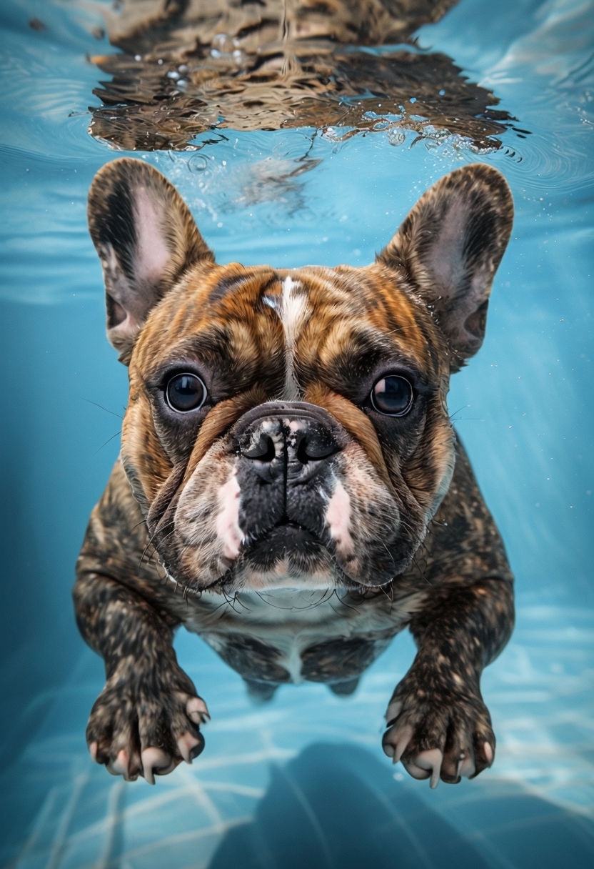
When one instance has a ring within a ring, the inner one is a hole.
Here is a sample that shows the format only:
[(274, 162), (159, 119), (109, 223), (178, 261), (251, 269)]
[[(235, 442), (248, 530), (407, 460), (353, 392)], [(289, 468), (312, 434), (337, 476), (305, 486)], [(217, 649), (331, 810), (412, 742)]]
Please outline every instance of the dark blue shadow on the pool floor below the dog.
[[(590, 819), (518, 786), (478, 792), (476, 784), (441, 784), (448, 794), (438, 813), (413, 793), (426, 783), (395, 781), (366, 750), (310, 746), (275, 766), (254, 821), (227, 833), (209, 869), (594, 865)], [(448, 803), (458, 829), (446, 818)]]

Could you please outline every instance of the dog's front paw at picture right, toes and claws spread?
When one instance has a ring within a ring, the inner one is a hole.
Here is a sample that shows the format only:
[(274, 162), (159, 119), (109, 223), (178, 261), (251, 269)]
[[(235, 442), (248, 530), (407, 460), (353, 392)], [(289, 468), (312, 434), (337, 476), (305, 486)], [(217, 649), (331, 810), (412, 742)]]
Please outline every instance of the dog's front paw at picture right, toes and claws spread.
[(431, 779), (432, 787), (439, 779), (456, 784), (479, 775), (495, 756), (491, 716), (480, 693), (422, 686), (406, 677), (396, 688), (386, 711), (384, 752), (414, 779)]

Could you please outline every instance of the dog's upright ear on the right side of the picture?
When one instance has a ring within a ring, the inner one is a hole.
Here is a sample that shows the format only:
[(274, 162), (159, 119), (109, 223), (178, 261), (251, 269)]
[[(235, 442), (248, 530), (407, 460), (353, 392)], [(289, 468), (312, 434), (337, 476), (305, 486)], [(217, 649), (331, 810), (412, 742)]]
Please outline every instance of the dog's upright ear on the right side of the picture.
[(456, 169), (421, 196), (377, 257), (412, 282), (453, 351), (452, 370), (485, 337), (493, 276), (512, 232), (512, 194), (497, 169)]

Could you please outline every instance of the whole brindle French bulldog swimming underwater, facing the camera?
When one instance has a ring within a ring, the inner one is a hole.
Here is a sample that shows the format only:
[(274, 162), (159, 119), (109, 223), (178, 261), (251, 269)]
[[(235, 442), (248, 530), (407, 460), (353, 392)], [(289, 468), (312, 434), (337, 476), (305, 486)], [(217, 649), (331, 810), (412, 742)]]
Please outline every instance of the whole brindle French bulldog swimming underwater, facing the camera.
[(304, 680), (351, 693), (407, 626), (386, 754), (433, 786), (491, 766), (479, 680), (512, 630), (512, 574), (446, 394), (511, 226), (503, 177), (477, 164), (366, 268), (219, 265), (155, 169), (97, 174), (89, 228), (129, 405), (74, 594), (105, 661), (87, 740), (109, 772), (154, 781), (201, 752), (181, 624), (256, 700)]

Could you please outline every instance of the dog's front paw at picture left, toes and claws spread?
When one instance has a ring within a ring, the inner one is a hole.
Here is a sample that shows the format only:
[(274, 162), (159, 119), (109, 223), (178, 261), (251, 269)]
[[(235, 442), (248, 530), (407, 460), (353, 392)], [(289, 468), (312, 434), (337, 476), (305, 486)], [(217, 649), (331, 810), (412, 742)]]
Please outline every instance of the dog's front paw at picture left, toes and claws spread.
[(201, 753), (199, 726), (208, 718), (206, 703), (177, 664), (161, 664), (154, 673), (121, 662), (91, 710), (89, 752), (109, 773), (127, 781), (141, 775), (154, 785), (155, 775)]

